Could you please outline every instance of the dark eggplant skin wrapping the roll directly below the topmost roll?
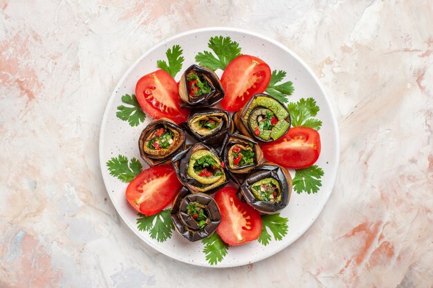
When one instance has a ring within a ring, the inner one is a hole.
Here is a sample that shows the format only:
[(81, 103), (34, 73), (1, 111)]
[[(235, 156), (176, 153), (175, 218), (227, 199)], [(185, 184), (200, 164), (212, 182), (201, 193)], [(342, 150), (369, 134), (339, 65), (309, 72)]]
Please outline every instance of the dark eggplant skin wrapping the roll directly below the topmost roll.
[[(226, 115), (227, 120), (223, 120), (223, 124), (221, 127), (215, 129), (212, 134), (210, 135), (200, 135), (199, 133), (196, 133), (192, 131), (192, 128), (190, 128), (190, 120), (194, 119), (194, 117), (199, 117), (201, 115), (212, 115), (216, 113), (223, 113)], [(221, 109), (216, 108), (205, 108), (205, 109), (199, 109), (196, 111), (192, 111), (190, 113), (190, 117), (188, 117), (187, 122), (183, 122), (181, 124), (181, 127), (185, 129), (185, 131), (190, 134), (192, 137), (194, 137), (195, 140), (198, 142), (201, 142), (206, 145), (210, 146), (220, 146), (221, 143), (223, 143), (225, 135), (227, 133), (232, 133), (234, 131), (234, 124), (232, 120), (232, 116), (227, 111), (223, 111)]]

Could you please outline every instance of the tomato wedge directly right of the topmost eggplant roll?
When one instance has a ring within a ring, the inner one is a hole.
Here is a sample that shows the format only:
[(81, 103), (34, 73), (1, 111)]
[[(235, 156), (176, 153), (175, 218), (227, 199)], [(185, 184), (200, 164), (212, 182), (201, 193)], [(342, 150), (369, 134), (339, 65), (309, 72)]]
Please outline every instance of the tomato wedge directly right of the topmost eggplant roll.
[(221, 106), (226, 111), (239, 111), (252, 95), (264, 92), (269, 81), (270, 68), (263, 60), (250, 55), (234, 58), (221, 76), (225, 93)]

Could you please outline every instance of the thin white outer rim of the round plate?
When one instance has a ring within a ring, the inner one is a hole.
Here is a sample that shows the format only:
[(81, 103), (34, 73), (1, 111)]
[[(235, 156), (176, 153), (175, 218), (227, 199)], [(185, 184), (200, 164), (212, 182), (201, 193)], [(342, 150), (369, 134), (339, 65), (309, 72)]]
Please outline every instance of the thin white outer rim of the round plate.
[[(322, 205), (321, 209), (318, 210), (318, 212), (314, 215), (314, 218), (312, 218), (311, 220), (308, 220), (308, 222), (306, 223), (306, 225), (304, 226), (305, 228), (302, 229), (302, 231), (298, 232), (299, 236), (291, 241), (291, 242), (286, 242), (284, 244), (282, 244), (281, 249), (279, 249), (278, 251), (274, 251), (274, 253), (270, 253), (270, 254), (262, 254), (260, 256), (257, 256), (257, 258), (255, 258), (255, 260), (251, 261), (242, 261), (242, 262), (236, 262), (236, 263), (217, 263), (216, 265), (210, 265), (208, 262), (196, 262), (194, 260), (191, 260), (190, 258), (186, 258), (183, 256), (178, 256), (178, 254), (173, 253), (172, 251), (169, 251), (167, 249), (164, 249), (163, 247), (159, 247), (159, 246), (154, 246), (154, 244), (151, 242), (151, 240), (149, 240), (148, 238), (146, 238), (145, 236), (143, 236), (141, 233), (139, 233), (140, 231), (138, 231), (138, 229), (136, 229), (136, 227), (131, 227), (129, 224), (129, 220), (127, 219), (127, 215), (121, 211), (120, 207), (118, 207), (118, 203), (117, 201), (114, 201), (113, 198), (111, 197), (111, 193), (109, 193), (109, 189), (107, 186), (107, 182), (108, 182), (108, 173), (104, 173), (102, 172), (102, 167), (104, 167), (105, 163), (102, 160), (102, 146), (103, 146), (103, 140), (102, 140), (102, 136), (104, 135), (105, 129), (106, 129), (106, 123), (107, 123), (107, 117), (109, 117), (109, 107), (112, 106), (114, 99), (116, 99), (116, 95), (117, 95), (117, 91), (119, 90), (121, 84), (125, 81), (125, 79), (127, 78), (127, 76), (131, 73), (131, 71), (133, 70), (133, 68), (136, 68), (136, 66), (140, 63), (140, 61), (142, 61), (142, 59), (144, 59), (145, 57), (147, 57), (147, 55), (149, 55), (151, 52), (153, 52), (154, 50), (159, 49), (160, 47), (164, 46), (167, 42), (172, 41), (174, 39), (178, 39), (181, 37), (185, 37), (186, 35), (191, 35), (194, 33), (199, 33), (199, 32), (216, 32), (216, 31), (221, 31), (221, 32), (239, 32), (245, 35), (250, 35), (253, 37), (257, 37), (260, 39), (263, 39), (265, 41), (269, 41), (271, 44), (274, 44), (275, 46), (278, 46), (279, 48), (282, 48), (282, 50), (284, 50), (285, 52), (288, 52), (288, 54), (290, 54), (292, 57), (294, 57), (295, 59), (297, 59), (297, 61), (300, 62), (300, 64), (306, 68), (306, 70), (308, 71), (308, 73), (310, 75), (313, 76), (313, 79), (315, 80), (315, 82), (317, 83), (317, 85), (320, 88), (320, 91), (323, 93), (324, 95), (324, 99), (326, 104), (329, 106), (329, 111), (331, 112), (331, 121), (333, 124), (333, 132), (335, 133), (335, 159), (333, 159), (333, 161), (335, 161), (335, 173), (333, 173), (333, 175), (331, 175), (331, 178), (329, 180), (329, 182), (332, 184), (331, 185), (331, 191), (329, 193), (327, 193), (326, 196), (326, 201), (324, 201), (324, 204)], [(246, 30), (246, 29), (242, 29), (242, 28), (232, 28), (232, 27), (219, 27), (219, 26), (214, 26), (214, 27), (206, 27), (206, 28), (198, 28), (198, 29), (192, 29), (192, 30), (187, 30), (181, 33), (178, 33), (176, 35), (173, 35), (171, 37), (168, 37), (166, 39), (163, 39), (162, 41), (159, 41), (157, 44), (155, 44), (154, 46), (152, 46), (151, 48), (149, 48), (148, 50), (146, 50), (146, 52), (144, 52), (140, 57), (138, 57), (138, 59), (136, 59), (136, 61), (133, 62), (133, 64), (131, 64), (131, 66), (129, 66), (129, 68), (125, 71), (125, 73), (123, 73), (122, 77), (120, 77), (120, 79), (118, 80), (118, 83), (116, 84), (116, 86), (113, 88), (113, 91), (111, 92), (111, 95), (107, 101), (107, 104), (105, 106), (104, 109), (104, 114), (102, 116), (102, 123), (100, 126), (100, 133), (99, 133), (99, 145), (98, 145), (98, 150), (99, 150), (99, 158), (100, 158), (100, 173), (102, 175), (102, 181), (104, 182), (104, 186), (105, 186), (105, 190), (107, 191), (107, 194), (109, 195), (110, 201), (113, 204), (113, 207), (116, 209), (116, 212), (120, 215), (120, 218), (122, 218), (122, 221), (127, 225), (127, 227), (129, 229), (131, 229), (133, 231), (133, 233), (136, 234), (136, 236), (138, 236), (138, 238), (140, 238), (141, 240), (143, 240), (146, 244), (148, 244), (152, 249), (155, 249), (156, 251), (165, 254), (166, 256), (169, 256), (170, 258), (179, 260), (181, 262), (185, 262), (187, 264), (190, 265), (196, 265), (196, 266), (200, 266), (200, 267), (209, 267), (209, 268), (228, 268), (228, 267), (239, 267), (239, 266), (243, 266), (243, 265), (248, 265), (251, 264), (253, 262), (259, 262), (261, 260), (264, 260), (266, 258), (269, 258), (271, 256), (274, 256), (276, 253), (281, 252), (282, 250), (286, 249), (288, 246), (290, 246), (291, 244), (293, 244), (293, 242), (296, 242), (297, 240), (299, 240), (304, 233), (306, 233), (306, 231), (308, 229), (311, 228), (311, 225), (315, 222), (315, 220), (317, 220), (317, 218), (319, 217), (320, 213), (322, 213), (322, 211), (324, 210), (324, 207), (326, 206), (326, 204), (329, 201), (329, 197), (331, 196), (331, 193), (333, 192), (334, 186), (335, 186), (335, 180), (337, 178), (338, 175), (338, 168), (340, 166), (340, 131), (338, 128), (338, 121), (337, 118), (335, 117), (335, 112), (333, 110), (333, 106), (331, 105), (331, 102), (329, 100), (328, 95), (325, 93), (325, 90), (322, 86), (322, 83), (320, 82), (319, 78), (317, 77), (317, 75), (314, 73), (314, 71), (310, 68), (310, 66), (308, 66), (308, 64), (306, 64), (306, 62), (300, 58), (298, 55), (295, 54), (295, 52), (293, 52), (290, 48), (284, 46), (283, 44), (279, 43), (279, 41), (272, 39), (270, 37), (267, 37), (265, 35), (261, 35), (258, 32), (254, 32), (251, 30)]]

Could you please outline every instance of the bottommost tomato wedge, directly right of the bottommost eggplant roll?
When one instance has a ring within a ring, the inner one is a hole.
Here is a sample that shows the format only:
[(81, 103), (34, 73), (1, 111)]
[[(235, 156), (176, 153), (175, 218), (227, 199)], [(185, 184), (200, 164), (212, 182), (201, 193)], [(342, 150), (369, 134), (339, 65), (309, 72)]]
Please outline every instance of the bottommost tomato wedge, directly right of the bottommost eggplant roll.
[(230, 245), (256, 240), (261, 233), (259, 211), (241, 202), (236, 192), (234, 187), (225, 187), (217, 191), (214, 197), (221, 213), (221, 223), (216, 232)]

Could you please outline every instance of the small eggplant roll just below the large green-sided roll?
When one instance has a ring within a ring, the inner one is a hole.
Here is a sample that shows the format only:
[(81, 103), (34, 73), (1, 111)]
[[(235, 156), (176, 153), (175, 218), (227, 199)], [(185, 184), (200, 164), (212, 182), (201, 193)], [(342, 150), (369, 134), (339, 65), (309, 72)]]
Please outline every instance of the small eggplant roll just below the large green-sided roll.
[(225, 136), (221, 157), (231, 173), (248, 173), (264, 163), (263, 152), (250, 137), (228, 133)]

